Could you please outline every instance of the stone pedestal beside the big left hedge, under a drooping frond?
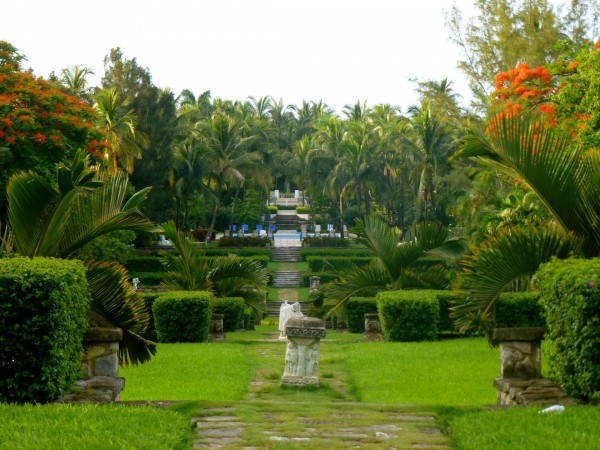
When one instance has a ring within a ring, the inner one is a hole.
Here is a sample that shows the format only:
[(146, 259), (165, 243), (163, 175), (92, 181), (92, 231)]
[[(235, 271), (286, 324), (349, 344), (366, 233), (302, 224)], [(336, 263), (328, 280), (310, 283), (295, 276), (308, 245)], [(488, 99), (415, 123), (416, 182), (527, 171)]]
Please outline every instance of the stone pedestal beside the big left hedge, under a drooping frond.
[(90, 328), (83, 338), (81, 367), (83, 380), (77, 381), (61, 403), (111, 403), (119, 401), (125, 379), (119, 378), (120, 328)]

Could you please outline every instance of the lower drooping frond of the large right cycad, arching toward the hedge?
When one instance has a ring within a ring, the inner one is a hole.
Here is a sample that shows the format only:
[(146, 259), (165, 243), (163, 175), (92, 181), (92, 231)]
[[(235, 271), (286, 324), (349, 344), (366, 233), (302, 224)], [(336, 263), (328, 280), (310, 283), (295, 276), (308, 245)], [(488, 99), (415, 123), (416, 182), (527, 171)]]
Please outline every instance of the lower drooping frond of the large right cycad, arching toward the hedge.
[(481, 316), (489, 315), (502, 291), (515, 279), (533, 275), (552, 257), (577, 254), (581, 240), (556, 226), (513, 227), (500, 231), (460, 262), (457, 287), (467, 301), (454, 307), (458, 328), (465, 331)]

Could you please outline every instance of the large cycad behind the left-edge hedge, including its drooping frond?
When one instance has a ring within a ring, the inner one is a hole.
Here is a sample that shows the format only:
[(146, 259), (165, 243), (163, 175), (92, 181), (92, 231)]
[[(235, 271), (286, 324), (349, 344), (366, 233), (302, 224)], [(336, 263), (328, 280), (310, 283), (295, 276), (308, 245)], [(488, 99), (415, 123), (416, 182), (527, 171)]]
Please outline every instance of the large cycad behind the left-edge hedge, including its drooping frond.
[[(105, 177), (90, 168), (81, 152), (70, 166), (58, 166), (55, 186), (32, 172), (15, 174), (7, 186), (5, 247), (9, 254), (75, 258), (83, 245), (112, 231), (156, 231), (139, 210), (148, 189), (126, 200), (127, 184), (122, 173)], [(155, 345), (140, 336), (149, 316), (125, 268), (112, 262), (84, 263), (92, 295), (89, 325), (123, 329), (121, 363), (149, 360)]]

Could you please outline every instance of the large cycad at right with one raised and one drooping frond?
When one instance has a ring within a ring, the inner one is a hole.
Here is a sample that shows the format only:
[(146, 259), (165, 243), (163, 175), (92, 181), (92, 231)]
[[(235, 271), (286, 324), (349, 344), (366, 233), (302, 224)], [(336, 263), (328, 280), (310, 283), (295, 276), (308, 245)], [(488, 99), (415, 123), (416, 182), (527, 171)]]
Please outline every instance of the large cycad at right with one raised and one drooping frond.
[(492, 111), (486, 131), (473, 130), (456, 158), (471, 157), (531, 190), (552, 220), (538, 226), (505, 227), (464, 261), (457, 287), (468, 300), (455, 308), (463, 329), (485, 328), (502, 291), (533, 275), (552, 257), (600, 254), (600, 153), (535, 112)]

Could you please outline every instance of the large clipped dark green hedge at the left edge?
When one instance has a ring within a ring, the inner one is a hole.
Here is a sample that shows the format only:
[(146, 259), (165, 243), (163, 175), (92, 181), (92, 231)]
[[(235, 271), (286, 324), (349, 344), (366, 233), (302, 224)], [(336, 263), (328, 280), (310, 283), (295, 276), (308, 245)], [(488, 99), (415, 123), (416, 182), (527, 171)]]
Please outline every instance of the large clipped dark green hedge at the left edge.
[(0, 259), (0, 402), (53, 402), (81, 376), (85, 274), (78, 260)]

